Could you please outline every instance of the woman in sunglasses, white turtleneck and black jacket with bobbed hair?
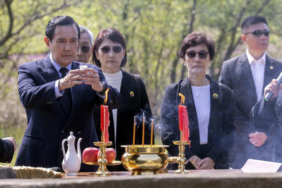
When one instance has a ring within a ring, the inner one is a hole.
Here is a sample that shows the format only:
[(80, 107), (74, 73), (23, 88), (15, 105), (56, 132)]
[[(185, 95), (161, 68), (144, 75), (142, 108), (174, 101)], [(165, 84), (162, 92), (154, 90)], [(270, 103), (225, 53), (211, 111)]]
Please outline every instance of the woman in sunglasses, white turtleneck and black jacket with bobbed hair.
[[(134, 116), (136, 115), (135, 144), (142, 144), (142, 114), (145, 113), (145, 144), (150, 144), (150, 120), (152, 112), (145, 84), (139, 75), (133, 75), (120, 68), (126, 64), (126, 45), (122, 34), (114, 28), (100, 31), (94, 43), (93, 62), (101, 67), (107, 83), (122, 95), (122, 105), (110, 110), (109, 140), (110, 147), (116, 150), (116, 160), (121, 160), (125, 152), (121, 145), (132, 144)], [(94, 109), (94, 116), (100, 117), (100, 107)], [(95, 121), (96, 120), (96, 121)], [(96, 133), (101, 138), (100, 118), (94, 119)], [(108, 166), (110, 171), (126, 171), (120, 165)]]

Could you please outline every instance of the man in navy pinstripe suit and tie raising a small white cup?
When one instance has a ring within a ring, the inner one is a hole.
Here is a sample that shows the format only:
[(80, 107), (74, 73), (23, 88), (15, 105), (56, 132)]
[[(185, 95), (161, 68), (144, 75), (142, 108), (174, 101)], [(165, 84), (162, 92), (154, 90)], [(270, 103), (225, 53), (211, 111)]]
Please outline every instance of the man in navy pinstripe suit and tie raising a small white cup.
[[(120, 106), (120, 93), (107, 84), (99, 68), (73, 61), (80, 29), (69, 16), (56, 16), (48, 22), (44, 41), (50, 53), (45, 59), (19, 67), (19, 95), (26, 109), (28, 127), (24, 133), (15, 165), (62, 167), (61, 143), (72, 131), (82, 138), (81, 151), (98, 141), (93, 122), (94, 104)], [(81, 65), (88, 68), (80, 70)], [(66, 145), (65, 145), (66, 147)], [(66, 148), (67, 149), (67, 148)], [(81, 164), (80, 172), (95, 167)]]

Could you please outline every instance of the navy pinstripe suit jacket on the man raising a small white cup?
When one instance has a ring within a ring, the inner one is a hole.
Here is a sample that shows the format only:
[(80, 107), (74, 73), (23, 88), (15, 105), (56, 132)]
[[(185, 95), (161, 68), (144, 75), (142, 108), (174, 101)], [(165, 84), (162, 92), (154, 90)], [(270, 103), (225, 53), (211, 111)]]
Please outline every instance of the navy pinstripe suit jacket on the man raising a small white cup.
[[(100, 81), (106, 80), (98, 67), (72, 62), (71, 69), (79, 69), (80, 65), (94, 68), (100, 75)], [(21, 143), (16, 166), (62, 167), (62, 141), (73, 132), (75, 147), (78, 138), (81, 153), (86, 147), (94, 147), (98, 141), (93, 121), (94, 104), (103, 103), (90, 85), (77, 84), (71, 88), (73, 107), (70, 108), (66, 98), (55, 97), (55, 81), (60, 79), (52, 65), (49, 54), (45, 59), (24, 63), (19, 67), (19, 95), (26, 110), (28, 126)], [(120, 93), (108, 85), (107, 105), (110, 109), (121, 104)], [(62, 99), (62, 100), (61, 100)], [(67, 145), (65, 145), (67, 152)], [(93, 172), (94, 166), (81, 164), (80, 172)]]

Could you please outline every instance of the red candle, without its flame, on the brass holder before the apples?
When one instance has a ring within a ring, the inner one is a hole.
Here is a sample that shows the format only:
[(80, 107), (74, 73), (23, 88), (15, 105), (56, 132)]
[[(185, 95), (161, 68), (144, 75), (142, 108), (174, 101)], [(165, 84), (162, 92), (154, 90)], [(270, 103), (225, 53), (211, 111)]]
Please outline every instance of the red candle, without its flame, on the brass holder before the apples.
[(110, 113), (108, 106), (101, 105), (101, 131), (102, 131), (102, 142), (109, 142), (109, 131), (108, 127), (110, 125)]

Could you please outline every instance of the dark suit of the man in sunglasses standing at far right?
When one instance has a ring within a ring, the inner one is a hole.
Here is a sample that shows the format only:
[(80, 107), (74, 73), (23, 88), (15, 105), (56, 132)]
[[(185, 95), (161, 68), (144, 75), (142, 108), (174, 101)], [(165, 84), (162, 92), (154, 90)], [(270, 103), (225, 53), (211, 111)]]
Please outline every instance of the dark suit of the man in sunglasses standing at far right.
[[(263, 88), (281, 72), (282, 63), (266, 55)], [(256, 88), (251, 73), (251, 67), (246, 53), (224, 61), (219, 82), (227, 85), (235, 94), (236, 105), (236, 145), (232, 149), (230, 158), (233, 160), (231, 167), (241, 168), (247, 159), (271, 160), (273, 150), (274, 127), (266, 132), (268, 139), (261, 147), (256, 147), (249, 142), (248, 135), (255, 132), (251, 126), (251, 108), (257, 102)], [(261, 96), (263, 92), (261, 93)], [(268, 122), (264, 121), (267, 124)], [(272, 148), (270, 148), (272, 147)], [(234, 151), (234, 152), (233, 152)], [(262, 153), (261, 151), (264, 151)]]

